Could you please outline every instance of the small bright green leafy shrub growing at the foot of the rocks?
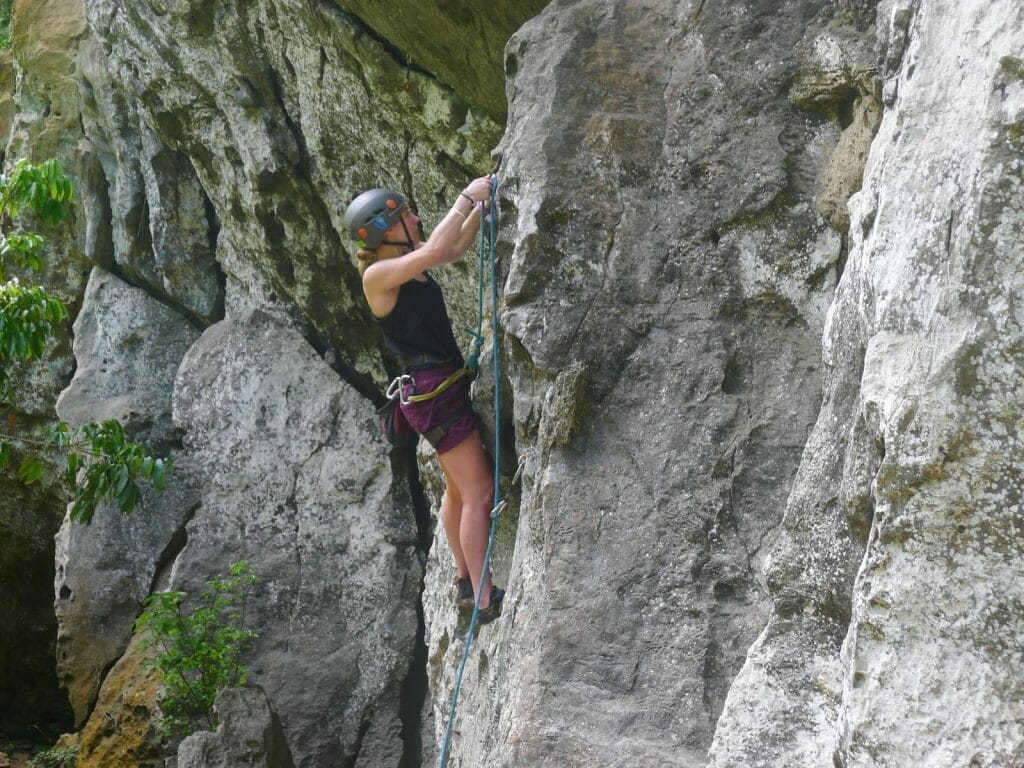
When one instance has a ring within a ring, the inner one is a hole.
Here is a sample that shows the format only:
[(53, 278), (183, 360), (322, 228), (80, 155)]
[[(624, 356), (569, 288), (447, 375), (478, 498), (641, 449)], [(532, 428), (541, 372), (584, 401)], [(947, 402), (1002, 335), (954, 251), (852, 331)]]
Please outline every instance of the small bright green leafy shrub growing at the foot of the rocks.
[(163, 677), (157, 727), (165, 737), (216, 728), (217, 693), (246, 682), (242, 656), (257, 635), (245, 629), (245, 605), (258, 582), (243, 561), (230, 566), (228, 578), (208, 581), (190, 610), (184, 592), (146, 598), (135, 632), (143, 633), (144, 648), (156, 650), (146, 669)]

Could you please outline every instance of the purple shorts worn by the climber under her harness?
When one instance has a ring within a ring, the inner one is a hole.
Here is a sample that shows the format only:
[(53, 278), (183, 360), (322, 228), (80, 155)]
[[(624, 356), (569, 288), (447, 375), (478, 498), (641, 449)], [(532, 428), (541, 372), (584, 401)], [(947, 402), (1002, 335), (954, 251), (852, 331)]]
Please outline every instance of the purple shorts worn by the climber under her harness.
[[(416, 382), (416, 390), (409, 385), (402, 387), (403, 394), (427, 394), (433, 392), (447, 377), (458, 371), (460, 366), (447, 365), (431, 368), (426, 371), (416, 371), (411, 376)], [(465, 440), (476, 429), (476, 415), (469, 402), (470, 377), (459, 379), (436, 397), (423, 402), (402, 403), (401, 412), (406, 419), (420, 434), (427, 437), (438, 454), (451, 451)], [(454, 421), (452, 421), (454, 419)], [(442, 427), (451, 422), (439, 439), (431, 439), (428, 435), (431, 429)]]

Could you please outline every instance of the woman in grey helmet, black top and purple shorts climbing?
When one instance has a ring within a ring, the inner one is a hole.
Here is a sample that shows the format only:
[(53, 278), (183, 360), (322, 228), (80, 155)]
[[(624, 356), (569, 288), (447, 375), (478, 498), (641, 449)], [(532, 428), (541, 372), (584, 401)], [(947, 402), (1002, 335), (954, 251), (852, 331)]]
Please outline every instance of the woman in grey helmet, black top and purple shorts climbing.
[(471, 181), (426, 242), (420, 238), (419, 217), (390, 189), (362, 193), (344, 217), (359, 245), (356, 257), (370, 311), (412, 377), (413, 383), (403, 386), (402, 413), (434, 446), (444, 474), (440, 516), (455, 555), (459, 604), (472, 606), (479, 595), (480, 624), (501, 615), (505, 592), (490, 583), (489, 573), (480, 581), (494, 478), (469, 401), (469, 379), (424, 401), (406, 399), (433, 392), (463, 367), (444, 297), (427, 270), (458, 261), (469, 249), (490, 185), (490, 176)]

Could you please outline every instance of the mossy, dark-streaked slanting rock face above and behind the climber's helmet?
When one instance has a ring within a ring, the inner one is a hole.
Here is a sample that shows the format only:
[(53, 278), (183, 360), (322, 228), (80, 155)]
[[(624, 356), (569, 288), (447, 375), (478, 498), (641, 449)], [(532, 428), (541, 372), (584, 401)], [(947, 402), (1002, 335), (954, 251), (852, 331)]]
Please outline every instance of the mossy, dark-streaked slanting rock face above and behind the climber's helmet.
[(332, 3), (85, 7), (117, 263), (207, 321), (272, 312), (381, 379), (344, 208), (393, 186), (431, 225), (492, 165), (500, 126)]

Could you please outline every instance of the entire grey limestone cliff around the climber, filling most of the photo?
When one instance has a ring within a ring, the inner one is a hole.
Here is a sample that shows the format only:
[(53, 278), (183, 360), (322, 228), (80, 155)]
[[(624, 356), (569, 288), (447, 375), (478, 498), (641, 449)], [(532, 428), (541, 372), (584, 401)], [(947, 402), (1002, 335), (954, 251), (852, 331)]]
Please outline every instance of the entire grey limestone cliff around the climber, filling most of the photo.
[[(58, 539), (83, 754), (117, 768), (103, 724), (152, 706), (145, 594), (249, 559), (252, 680), (294, 764), (436, 759), (465, 618), (375, 436), (393, 360), (339, 221), (385, 183), (429, 226), (500, 140), (523, 473), (449, 764), (1020, 763), (1024, 11), (555, 0), (517, 30), (542, 5), (87, 0), (88, 30), (81, 7), (54, 26), (80, 100), (47, 145), (102, 267), (73, 284), (61, 413), (126, 417), (176, 461), (136, 517)], [(438, 273), (470, 325), (475, 268)], [(118, 685), (139, 703), (104, 720)], [(234, 760), (198, 742), (185, 760)]]

